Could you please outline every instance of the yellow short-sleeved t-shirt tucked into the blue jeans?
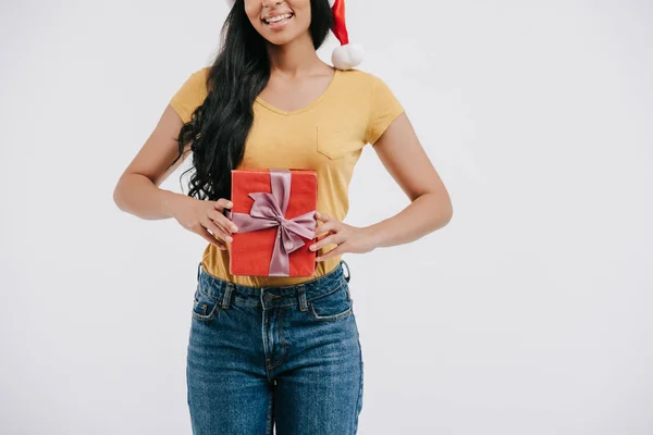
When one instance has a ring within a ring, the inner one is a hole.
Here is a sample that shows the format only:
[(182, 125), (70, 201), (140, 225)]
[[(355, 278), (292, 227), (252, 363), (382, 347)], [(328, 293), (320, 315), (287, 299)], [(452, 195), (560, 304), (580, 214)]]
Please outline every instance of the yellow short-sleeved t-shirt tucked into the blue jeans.
[[(207, 66), (190, 74), (170, 100), (182, 121), (188, 122), (207, 97), (208, 72)], [(285, 111), (260, 97), (256, 99), (245, 157), (237, 169), (315, 170), (317, 210), (343, 221), (349, 208), (349, 182), (364, 146), (373, 145), (402, 112), (404, 108), (378, 76), (360, 70), (335, 70), (325, 91), (303, 109)], [(335, 247), (324, 246), (318, 256)], [(222, 251), (208, 244), (202, 266), (222, 279), (255, 287), (313, 279), (334, 270), (341, 261), (341, 256), (336, 256), (317, 262), (310, 277), (238, 276), (229, 273), (230, 252), (231, 249)]]

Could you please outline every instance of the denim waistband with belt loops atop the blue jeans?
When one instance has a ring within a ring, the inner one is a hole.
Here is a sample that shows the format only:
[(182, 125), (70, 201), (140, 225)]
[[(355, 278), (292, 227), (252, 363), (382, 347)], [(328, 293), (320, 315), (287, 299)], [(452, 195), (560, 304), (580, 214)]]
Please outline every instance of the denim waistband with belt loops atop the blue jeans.
[[(346, 274), (344, 268), (347, 269)], [(201, 262), (197, 266), (199, 289), (208, 296), (221, 300), (222, 308), (239, 304), (260, 306), (263, 309), (269, 309), (289, 307), (296, 304), (298, 300), (300, 306), (304, 306), (311, 299), (340, 289), (349, 282), (350, 276), (349, 265), (341, 260), (333, 271), (299, 284), (278, 287), (251, 287), (213, 276), (204, 269)]]

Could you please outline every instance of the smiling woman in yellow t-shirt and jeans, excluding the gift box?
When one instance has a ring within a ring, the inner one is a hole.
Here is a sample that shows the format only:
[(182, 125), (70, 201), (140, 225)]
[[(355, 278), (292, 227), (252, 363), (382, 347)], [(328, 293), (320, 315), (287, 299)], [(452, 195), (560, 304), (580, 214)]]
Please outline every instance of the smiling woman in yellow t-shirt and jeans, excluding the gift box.
[[(343, 44), (323, 63), (329, 29)], [(118, 183), (121, 210), (174, 217), (204, 237), (188, 344), (195, 434), (355, 434), (362, 353), (341, 257), (406, 244), (452, 216), (445, 187), (402, 104), (377, 76), (353, 66), (341, 0), (236, 0), (211, 66), (193, 73)], [(362, 147), (410, 198), (366, 227), (342, 222)], [(188, 195), (158, 186), (193, 151)], [(316, 272), (310, 277), (233, 276), (225, 216), (233, 169), (318, 173)], [(324, 237), (325, 236), (325, 237)], [(322, 238), (323, 237), (323, 238)], [(347, 268), (348, 272), (348, 268)]]

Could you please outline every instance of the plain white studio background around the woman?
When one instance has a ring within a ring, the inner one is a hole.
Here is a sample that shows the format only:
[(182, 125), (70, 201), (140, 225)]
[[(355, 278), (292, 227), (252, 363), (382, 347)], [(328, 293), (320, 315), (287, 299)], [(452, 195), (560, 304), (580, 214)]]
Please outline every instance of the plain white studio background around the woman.
[[(0, 12), (0, 433), (189, 434), (205, 240), (112, 191), (226, 5)], [(344, 257), (359, 433), (653, 433), (652, 3), (352, 0), (347, 21), (454, 204), (416, 243)], [(369, 147), (350, 204), (353, 225), (408, 204)]]

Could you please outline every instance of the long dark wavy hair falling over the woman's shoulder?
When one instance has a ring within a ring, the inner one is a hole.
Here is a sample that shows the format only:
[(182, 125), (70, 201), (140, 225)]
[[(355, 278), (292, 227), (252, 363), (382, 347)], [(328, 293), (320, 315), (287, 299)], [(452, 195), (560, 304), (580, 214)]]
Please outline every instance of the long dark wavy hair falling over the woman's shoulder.
[[(332, 26), (329, 0), (310, 0), (310, 35), (316, 50)], [(267, 44), (236, 0), (221, 29), (221, 48), (207, 75), (208, 95), (177, 137), (178, 156), (190, 141), (193, 167), (188, 196), (197, 199), (231, 199), (231, 171), (245, 154), (245, 140), (254, 121), (252, 104), (270, 79)], [(169, 166), (169, 167), (170, 167)]]

